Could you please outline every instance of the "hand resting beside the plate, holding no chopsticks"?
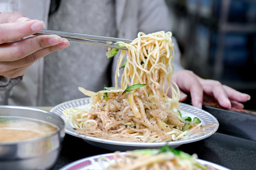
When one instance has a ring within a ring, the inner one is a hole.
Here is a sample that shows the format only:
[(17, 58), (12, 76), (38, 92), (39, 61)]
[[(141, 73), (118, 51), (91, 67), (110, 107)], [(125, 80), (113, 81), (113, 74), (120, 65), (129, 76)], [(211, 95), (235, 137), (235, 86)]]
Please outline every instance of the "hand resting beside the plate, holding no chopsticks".
[[(204, 93), (214, 96), (220, 106), (224, 108), (243, 108), (244, 106), (240, 102), (250, 100), (250, 96), (247, 94), (222, 85), (216, 80), (202, 79), (189, 70), (176, 71), (172, 78), (180, 88), (180, 102), (186, 100), (185, 93), (190, 93), (193, 106), (198, 108), (202, 108)], [(168, 95), (170, 93), (169, 91)]]

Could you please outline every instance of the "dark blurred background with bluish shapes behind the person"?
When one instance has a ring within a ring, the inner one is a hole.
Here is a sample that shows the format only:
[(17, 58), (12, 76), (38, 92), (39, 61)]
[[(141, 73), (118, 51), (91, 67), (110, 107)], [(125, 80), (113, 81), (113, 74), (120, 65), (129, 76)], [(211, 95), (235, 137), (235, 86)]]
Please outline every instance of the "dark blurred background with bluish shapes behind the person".
[(247, 93), (256, 111), (256, 1), (166, 0), (182, 66)]

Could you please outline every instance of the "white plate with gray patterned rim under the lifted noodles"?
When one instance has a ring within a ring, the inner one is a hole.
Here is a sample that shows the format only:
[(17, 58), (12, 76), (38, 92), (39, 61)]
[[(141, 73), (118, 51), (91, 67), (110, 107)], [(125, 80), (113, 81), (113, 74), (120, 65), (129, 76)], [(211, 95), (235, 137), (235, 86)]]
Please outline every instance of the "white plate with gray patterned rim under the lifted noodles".
[[(53, 112), (54, 114), (57, 114), (61, 116), (63, 119), (65, 119), (65, 116), (63, 115), (62, 111), (66, 108), (70, 107), (78, 107), (78, 108), (84, 108), (89, 102), (91, 102), (92, 98), (81, 98), (81, 99), (75, 99), (70, 100), (61, 104), (58, 104), (57, 106), (53, 107), (50, 112)], [(190, 135), (186, 139), (181, 139), (177, 141), (170, 141), (170, 142), (159, 142), (159, 143), (144, 143), (144, 142), (123, 142), (123, 141), (115, 141), (115, 140), (107, 140), (107, 139), (99, 139), (96, 137), (86, 136), (77, 133), (73, 130), (71, 125), (69, 123), (65, 123), (65, 132), (67, 134), (80, 137), (84, 139), (87, 143), (94, 145), (96, 147), (108, 149), (111, 151), (131, 151), (135, 149), (159, 149), (164, 145), (169, 145), (172, 148), (176, 148), (182, 144), (195, 142), (198, 140), (205, 139), (206, 137), (211, 136), (213, 133), (217, 131), (219, 128), (219, 122), (218, 120), (211, 115), (210, 113), (201, 110), (199, 108), (196, 108), (194, 106), (180, 103), (180, 110), (182, 116), (190, 116), (192, 119), (194, 117), (197, 117), (201, 120), (201, 122), (204, 125), (211, 125), (215, 124), (214, 126), (211, 126), (209, 128), (206, 128), (204, 133), (201, 134), (193, 134)]]

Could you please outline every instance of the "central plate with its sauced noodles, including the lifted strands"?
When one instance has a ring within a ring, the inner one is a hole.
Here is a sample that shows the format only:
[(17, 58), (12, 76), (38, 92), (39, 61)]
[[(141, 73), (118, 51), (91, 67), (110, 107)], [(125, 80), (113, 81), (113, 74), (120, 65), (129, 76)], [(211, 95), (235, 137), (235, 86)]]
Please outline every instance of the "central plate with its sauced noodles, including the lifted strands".
[[(51, 110), (65, 119), (69, 126), (66, 132), (94, 145), (99, 142), (103, 148), (109, 149), (109, 144), (128, 146), (125, 150), (159, 148), (165, 143), (177, 147), (212, 135), (219, 127), (214, 116), (179, 103), (179, 87), (172, 80), (171, 36), (164, 31), (148, 35), (140, 32), (131, 43), (116, 42), (128, 51), (122, 50), (117, 59), (115, 86), (104, 86), (99, 92), (78, 87), (90, 98), (68, 101)], [(117, 52), (108, 48), (108, 58)], [(167, 96), (168, 91), (172, 96)], [(81, 100), (83, 103), (79, 103)]]

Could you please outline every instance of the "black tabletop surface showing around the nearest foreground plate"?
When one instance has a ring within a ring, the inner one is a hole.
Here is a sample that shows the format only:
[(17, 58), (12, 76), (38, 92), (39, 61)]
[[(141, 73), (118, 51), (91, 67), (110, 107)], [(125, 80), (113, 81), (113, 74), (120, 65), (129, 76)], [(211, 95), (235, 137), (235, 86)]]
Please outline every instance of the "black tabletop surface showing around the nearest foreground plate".
[[(229, 169), (256, 169), (256, 142), (223, 133), (193, 143), (183, 144), (176, 149), (189, 154), (197, 153), (199, 159), (210, 161)], [(52, 168), (57, 170), (73, 161), (85, 157), (112, 153), (112, 151), (94, 147), (84, 140), (66, 134), (60, 156)]]

